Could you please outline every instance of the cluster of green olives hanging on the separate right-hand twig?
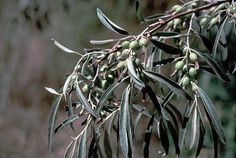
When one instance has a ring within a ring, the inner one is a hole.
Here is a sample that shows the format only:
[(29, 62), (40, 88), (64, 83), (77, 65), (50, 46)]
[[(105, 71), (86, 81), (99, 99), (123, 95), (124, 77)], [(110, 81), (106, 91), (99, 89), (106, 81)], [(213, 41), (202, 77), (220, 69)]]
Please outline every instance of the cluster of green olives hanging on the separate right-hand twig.
[[(188, 52), (188, 48), (185, 47), (183, 49), (184, 53)], [(191, 63), (195, 63), (198, 59), (198, 56), (196, 53), (193, 52), (189, 52), (188, 54), (188, 61), (190, 61)], [(186, 75), (183, 77), (182, 79), (182, 85), (184, 87), (189, 86), (191, 79), (194, 79), (197, 75), (197, 69), (195, 67), (190, 66), (189, 64), (184, 62), (185, 58), (183, 60), (180, 60), (178, 62), (176, 62), (175, 64), (175, 70), (177, 71), (184, 71), (186, 72)], [(194, 86), (192, 85), (192, 90), (195, 91), (196, 88), (194, 88)]]

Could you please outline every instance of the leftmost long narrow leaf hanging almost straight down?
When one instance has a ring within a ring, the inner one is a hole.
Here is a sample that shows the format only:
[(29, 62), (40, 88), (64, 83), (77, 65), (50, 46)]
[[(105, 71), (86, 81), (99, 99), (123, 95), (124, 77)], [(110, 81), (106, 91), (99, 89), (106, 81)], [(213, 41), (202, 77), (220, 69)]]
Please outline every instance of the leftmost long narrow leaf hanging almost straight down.
[(55, 121), (56, 121), (56, 115), (58, 111), (58, 107), (61, 102), (62, 95), (56, 97), (52, 103), (52, 108), (49, 116), (49, 123), (48, 123), (48, 147), (49, 151), (51, 151), (52, 148), (52, 135), (55, 127)]

